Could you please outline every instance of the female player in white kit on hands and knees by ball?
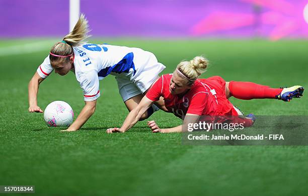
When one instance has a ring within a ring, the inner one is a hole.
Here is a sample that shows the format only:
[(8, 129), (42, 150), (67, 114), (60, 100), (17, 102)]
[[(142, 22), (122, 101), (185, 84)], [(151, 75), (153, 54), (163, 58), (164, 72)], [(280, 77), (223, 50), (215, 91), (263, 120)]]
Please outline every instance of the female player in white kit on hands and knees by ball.
[[(86, 105), (67, 130), (78, 130), (95, 111), (100, 96), (99, 80), (114, 75), (119, 92), (129, 111), (138, 105), (143, 94), (158, 79), (166, 68), (154, 54), (140, 48), (129, 48), (108, 44), (83, 43), (88, 36), (88, 21), (81, 15), (72, 32), (62, 42), (54, 44), (49, 55), (38, 67), (29, 82), (29, 112), (43, 112), (37, 105), (39, 84), (53, 71), (64, 76), (73, 71), (84, 91)], [(164, 101), (157, 105), (164, 109)], [(158, 110), (156, 106), (147, 110), (142, 119)]]

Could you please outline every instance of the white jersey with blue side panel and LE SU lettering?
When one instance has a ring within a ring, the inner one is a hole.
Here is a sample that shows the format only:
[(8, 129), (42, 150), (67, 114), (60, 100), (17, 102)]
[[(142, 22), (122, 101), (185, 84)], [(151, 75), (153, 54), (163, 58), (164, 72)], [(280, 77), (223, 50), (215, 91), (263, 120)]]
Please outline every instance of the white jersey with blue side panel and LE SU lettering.
[[(121, 75), (134, 81), (147, 69), (147, 64), (157, 64), (154, 54), (140, 48), (85, 43), (73, 47), (73, 52), (74, 73), (84, 91), (85, 101), (93, 101), (100, 96), (99, 80), (109, 74)], [(48, 55), (38, 67), (37, 73), (46, 78), (52, 71)]]

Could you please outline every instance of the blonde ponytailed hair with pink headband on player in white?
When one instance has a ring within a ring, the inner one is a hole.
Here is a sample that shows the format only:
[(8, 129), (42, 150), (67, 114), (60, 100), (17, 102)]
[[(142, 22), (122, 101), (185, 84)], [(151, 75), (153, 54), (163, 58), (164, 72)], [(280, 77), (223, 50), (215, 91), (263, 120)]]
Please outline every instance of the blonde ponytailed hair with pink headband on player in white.
[[(66, 63), (73, 53), (74, 46), (82, 45), (85, 39), (90, 37), (88, 21), (84, 14), (79, 17), (73, 30), (67, 34), (62, 42), (58, 42), (51, 47), (49, 60), (51, 64)], [(53, 55), (52, 55), (53, 54)]]

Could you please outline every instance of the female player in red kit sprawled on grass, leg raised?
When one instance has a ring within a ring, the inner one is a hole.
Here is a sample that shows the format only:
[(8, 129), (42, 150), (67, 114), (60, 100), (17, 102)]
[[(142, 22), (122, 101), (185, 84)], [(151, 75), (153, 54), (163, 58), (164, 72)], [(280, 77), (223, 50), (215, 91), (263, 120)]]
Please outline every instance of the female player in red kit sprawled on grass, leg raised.
[[(126, 132), (140, 116), (155, 101), (163, 97), (167, 112), (184, 119), (184, 124), (197, 121), (201, 115), (207, 116), (240, 116), (243, 115), (228, 98), (238, 99), (280, 99), (290, 101), (300, 98), (303, 87), (270, 88), (252, 82), (225, 82), (221, 77), (214, 76), (198, 79), (206, 71), (208, 60), (197, 56), (193, 60), (180, 62), (173, 74), (163, 75), (142, 98), (141, 102), (126, 117), (121, 128), (109, 128), (107, 133)], [(251, 126), (255, 120), (253, 114), (242, 118), (245, 126)], [(152, 132), (172, 133), (181, 132), (182, 125), (162, 129), (152, 120), (148, 122)]]

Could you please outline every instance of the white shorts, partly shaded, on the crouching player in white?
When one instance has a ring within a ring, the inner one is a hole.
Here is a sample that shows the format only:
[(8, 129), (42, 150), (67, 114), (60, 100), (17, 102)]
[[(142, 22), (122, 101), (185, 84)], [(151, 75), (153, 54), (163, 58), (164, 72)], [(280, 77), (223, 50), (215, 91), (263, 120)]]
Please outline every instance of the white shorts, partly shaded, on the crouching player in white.
[(164, 64), (157, 62), (157, 64), (145, 66), (142, 71), (137, 71), (133, 79), (121, 74), (115, 75), (123, 101), (144, 93), (159, 78), (159, 74), (165, 68)]

